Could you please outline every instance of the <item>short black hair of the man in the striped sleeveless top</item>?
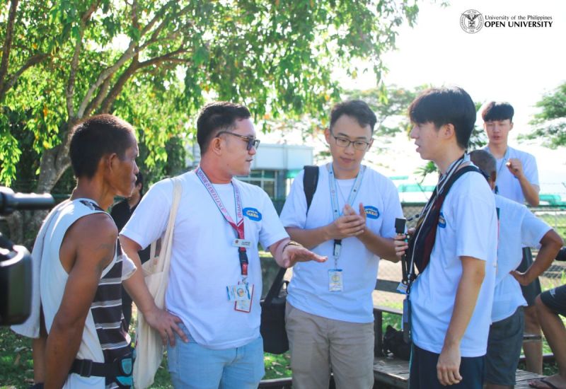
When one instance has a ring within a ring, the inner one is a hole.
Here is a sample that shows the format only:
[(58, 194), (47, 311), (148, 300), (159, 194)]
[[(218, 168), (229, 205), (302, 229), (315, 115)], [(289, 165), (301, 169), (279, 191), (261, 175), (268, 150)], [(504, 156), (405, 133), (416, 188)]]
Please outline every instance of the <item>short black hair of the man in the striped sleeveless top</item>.
[(71, 129), (69, 157), (76, 178), (93, 178), (100, 158), (116, 153), (125, 158), (132, 146), (134, 128), (114, 115), (96, 115)]

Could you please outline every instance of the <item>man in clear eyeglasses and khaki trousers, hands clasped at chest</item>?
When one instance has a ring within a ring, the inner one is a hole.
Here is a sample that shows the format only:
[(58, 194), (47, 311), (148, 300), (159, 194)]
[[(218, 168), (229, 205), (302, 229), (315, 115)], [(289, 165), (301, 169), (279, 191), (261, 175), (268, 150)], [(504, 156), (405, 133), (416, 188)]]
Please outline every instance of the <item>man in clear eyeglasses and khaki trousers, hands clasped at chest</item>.
[(328, 256), (293, 269), (286, 323), (293, 388), (325, 389), (332, 368), (337, 388), (374, 385), (371, 292), (380, 257), (397, 262), (395, 218), (402, 217), (393, 182), (362, 165), (376, 115), (361, 100), (335, 105), (325, 137), (332, 161), (318, 167), (310, 208), (304, 172), (293, 182), (281, 220), (291, 239)]

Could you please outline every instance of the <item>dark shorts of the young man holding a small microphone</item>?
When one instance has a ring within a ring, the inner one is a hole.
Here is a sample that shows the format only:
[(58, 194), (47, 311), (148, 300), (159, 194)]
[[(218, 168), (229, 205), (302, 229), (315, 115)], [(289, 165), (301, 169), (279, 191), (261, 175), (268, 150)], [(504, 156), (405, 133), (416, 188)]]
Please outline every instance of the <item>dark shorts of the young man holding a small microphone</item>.
[[(437, 363), (440, 354), (428, 352), (412, 345), (409, 389), (445, 389), (437, 378)], [(460, 362), (460, 375), (462, 381), (450, 385), (454, 389), (482, 389), (485, 376), (485, 357), (462, 357)]]

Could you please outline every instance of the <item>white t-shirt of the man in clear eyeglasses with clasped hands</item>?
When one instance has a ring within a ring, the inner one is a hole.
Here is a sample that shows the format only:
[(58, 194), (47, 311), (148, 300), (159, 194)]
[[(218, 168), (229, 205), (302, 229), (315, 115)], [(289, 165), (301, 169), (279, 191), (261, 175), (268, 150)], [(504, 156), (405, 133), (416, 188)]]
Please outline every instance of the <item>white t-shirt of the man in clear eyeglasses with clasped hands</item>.
[[(329, 170), (324, 165), (319, 167), (318, 172), (318, 185), (308, 216), (303, 187), (304, 171), (296, 176), (281, 212), (284, 226), (311, 229), (333, 222)], [(340, 210), (344, 208), (352, 185), (354, 179), (337, 180)], [(354, 199), (353, 208), (356, 212), (359, 212), (360, 202), (366, 209), (366, 226), (373, 233), (386, 238), (395, 236), (395, 218), (403, 217), (403, 211), (397, 189), (391, 180), (366, 168)], [(301, 262), (294, 266), (287, 301), (295, 308), (324, 318), (350, 323), (373, 322), (371, 291), (376, 285), (379, 257), (370, 252), (358, 238), (342, 239), (337, 265), (342, 269), (344, 290), (331, 292), (328, 291), (328, 270), (334, 269), (333, 248), (333, 240), (313, 248), (313, 252), (328, 256), (328, 261), (324, 263)]]

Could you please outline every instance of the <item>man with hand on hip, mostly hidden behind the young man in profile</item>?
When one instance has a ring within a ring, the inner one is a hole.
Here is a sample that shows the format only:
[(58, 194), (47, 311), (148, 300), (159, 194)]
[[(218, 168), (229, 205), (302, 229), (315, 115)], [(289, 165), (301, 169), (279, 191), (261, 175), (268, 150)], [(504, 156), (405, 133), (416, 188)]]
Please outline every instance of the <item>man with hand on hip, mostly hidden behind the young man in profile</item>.
[[(497, 181), (495, 158), (485, 150), (470, 153), (471, 161), (487, 176), (492, 189)], [(530, 284), (552, 264), (562, 238), (527, 207), (495, 194), (499, 216), (497, 275), (492, 308), (492, 325), (487, 340), (486, 388), (505, 389), (515, 385), (524, 332), (524, 306), (521, 284)], [(523, 245), (537, 247), (538, 255), (526, 272), (517, 272)]]

